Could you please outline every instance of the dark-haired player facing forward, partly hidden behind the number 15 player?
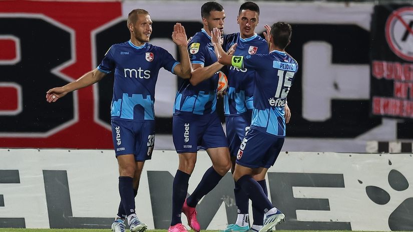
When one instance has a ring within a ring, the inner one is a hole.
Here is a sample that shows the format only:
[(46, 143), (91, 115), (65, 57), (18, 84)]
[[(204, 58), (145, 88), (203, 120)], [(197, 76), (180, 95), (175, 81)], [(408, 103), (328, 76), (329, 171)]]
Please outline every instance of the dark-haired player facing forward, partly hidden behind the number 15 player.
[[(241, 4), (237, 16), (240, 32), (224, 35), (224, 48), (237, 43), (234, 55), (268, 53), (267, 42), (255, 33), (258, 20), (259, 7), (256, 3), (247, 1)], [(251, 125), (254, 75), (255, 70), (228, 66), (228, 91), (224, 95), (224, 113), (232, 173), (239, 146)], [(266, 193), (265, 174), (262, 177), (255, 175), (253, 177)], [(259, 178), (257, 179), (257, 177)], [(229, 224), (223, 232), (245, 232), (249, 229), (248, 196), (236, 183), (234, 195), (238, 207), (237, 220), (234, 224)], [(254, 209), (255, 207), (253, 207), (254, 224), (252, 228), (259, 230), (259, 225), (263, 224), (264, 215), (261, 211)]]

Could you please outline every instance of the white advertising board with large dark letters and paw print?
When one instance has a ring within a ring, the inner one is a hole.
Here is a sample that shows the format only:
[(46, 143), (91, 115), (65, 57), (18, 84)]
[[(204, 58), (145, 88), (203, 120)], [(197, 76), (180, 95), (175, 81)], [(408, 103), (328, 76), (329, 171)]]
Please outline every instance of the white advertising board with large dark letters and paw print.
[[(112, 150), (0, 149), (0, 160), (0, 227), (110, 228), (120, 201)], [(211, 165), (199, 152), (189, 194)], [(277, 229), (413, 230), (412, 165), (412, 154), (281, 152), (267, 175), (268, 197), (286, 215)], [(177, 167), (174, 151), (145, 163), (135, 201), (149, 228), (169, 227)], [(233, 188), (228, 172), (201, 199), (201, 229), (234, 223)]]

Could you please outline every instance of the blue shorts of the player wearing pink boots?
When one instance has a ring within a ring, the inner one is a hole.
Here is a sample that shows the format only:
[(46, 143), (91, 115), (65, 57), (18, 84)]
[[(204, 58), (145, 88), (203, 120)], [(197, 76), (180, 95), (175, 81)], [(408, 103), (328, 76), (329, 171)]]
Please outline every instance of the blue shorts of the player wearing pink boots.
[(178, 153), (228, 147), (221, 121), (216, 112), (207, 115), (181, 112), (174, 115), (172, 137)]

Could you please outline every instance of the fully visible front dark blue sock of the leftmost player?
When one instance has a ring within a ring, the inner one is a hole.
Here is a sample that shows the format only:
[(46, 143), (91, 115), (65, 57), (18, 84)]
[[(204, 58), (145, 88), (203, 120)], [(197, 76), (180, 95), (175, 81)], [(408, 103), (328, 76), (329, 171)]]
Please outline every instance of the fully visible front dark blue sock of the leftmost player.
[(135, 197), (133, 195), (133, 178), (129, 176), (119, 176), (119, 194), (126, 212), (129, 216), (135, 213)]

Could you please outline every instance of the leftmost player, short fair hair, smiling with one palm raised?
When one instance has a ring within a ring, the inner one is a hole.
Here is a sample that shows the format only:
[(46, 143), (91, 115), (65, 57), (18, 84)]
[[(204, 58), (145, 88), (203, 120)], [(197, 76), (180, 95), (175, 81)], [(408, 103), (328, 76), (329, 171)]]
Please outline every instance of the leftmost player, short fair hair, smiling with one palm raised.
[(191, 65), (185, 28), (174, 25), (172, 40), (178, 45), (181, 62), (162, 47), (152, 45), (152, 20), (145, 9), (128, 15), (131, 39), (114, 44), (97, 68), (62, 87), (47, 91), (46, 98), (55, 102), (68, 92), (94, 84), (115, 71), (111, 124), (113, 144), (119, 164), (121, 202), (112, 231), (124, 232), (125, 217), (131, 231), (144, 231), (147, 225), (135, 212), (135, 196), (145, 160), (151, 159), (155, 141), (155, 84), (161, 67), (183, 78), (190, 78)]

